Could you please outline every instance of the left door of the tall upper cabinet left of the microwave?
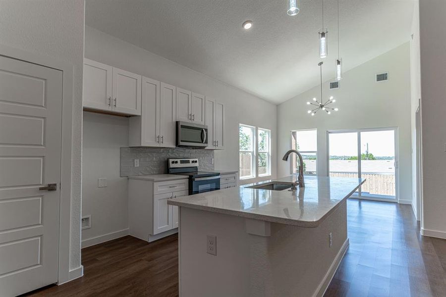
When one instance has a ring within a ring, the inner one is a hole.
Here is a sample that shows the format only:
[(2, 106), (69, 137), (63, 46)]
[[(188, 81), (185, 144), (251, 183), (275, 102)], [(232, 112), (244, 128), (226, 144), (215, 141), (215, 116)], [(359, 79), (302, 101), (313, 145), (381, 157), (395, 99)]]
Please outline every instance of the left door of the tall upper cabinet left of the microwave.
[(141, 146), (160, 146), (160, 82), (143, 77), (141, 98)]

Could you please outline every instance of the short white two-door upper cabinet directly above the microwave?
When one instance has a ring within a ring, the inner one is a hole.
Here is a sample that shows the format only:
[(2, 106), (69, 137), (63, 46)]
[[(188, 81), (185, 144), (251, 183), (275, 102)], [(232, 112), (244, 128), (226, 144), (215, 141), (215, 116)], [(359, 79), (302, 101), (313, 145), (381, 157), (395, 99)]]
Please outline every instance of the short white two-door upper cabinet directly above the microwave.
[(204, 125), (205, 97), (176, 88), (176, 120)]

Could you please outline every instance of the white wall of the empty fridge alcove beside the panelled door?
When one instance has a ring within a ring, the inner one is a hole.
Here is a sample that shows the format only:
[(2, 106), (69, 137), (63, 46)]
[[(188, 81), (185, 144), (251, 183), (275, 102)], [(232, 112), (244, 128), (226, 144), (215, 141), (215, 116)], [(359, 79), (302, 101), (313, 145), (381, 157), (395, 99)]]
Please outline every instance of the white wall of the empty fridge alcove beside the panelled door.
[[(91, 215), (91, 228), (82, 230), (83, 246), (128, 229), (128, 183), (119, 177), (120, 147), (126, 146), (128, 118), (84, 112), (82, 216)], [(106, 188), (98, 188), (98, 178), (107, 178)]]

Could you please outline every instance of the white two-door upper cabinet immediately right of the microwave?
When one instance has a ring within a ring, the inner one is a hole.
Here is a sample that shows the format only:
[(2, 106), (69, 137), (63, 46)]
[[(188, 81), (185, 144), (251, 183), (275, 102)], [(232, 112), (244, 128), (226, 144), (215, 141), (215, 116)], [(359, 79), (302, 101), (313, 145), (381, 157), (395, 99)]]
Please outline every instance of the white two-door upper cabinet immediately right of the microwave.
[(224, 105), (213, 99), (205, 101), (205, 125), (208, 126), (207, 149), (224, 149)]

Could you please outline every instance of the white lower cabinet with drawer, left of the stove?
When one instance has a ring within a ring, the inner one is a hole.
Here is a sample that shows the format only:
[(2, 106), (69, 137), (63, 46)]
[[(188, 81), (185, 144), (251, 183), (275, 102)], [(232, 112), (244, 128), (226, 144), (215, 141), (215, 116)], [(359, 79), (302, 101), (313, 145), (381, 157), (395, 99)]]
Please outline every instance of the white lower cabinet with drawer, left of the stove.
[(151, 242), (175, 233), (178, 228), (178, 207), (168, 205), (167, 201), (187, 196), (189, 193), (187, 189), (187, 179), (152, 182), (130, 178), (128, 185), (130, 235)]

